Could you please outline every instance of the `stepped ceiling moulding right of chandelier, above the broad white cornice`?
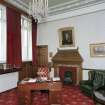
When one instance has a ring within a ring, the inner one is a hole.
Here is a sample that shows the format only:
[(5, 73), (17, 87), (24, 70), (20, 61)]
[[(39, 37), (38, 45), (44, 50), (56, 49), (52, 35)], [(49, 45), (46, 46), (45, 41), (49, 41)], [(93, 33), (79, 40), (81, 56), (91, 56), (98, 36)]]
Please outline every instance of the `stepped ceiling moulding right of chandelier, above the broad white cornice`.
[(49, 16), (97, 5), (103, 2), (105, 2), (105, 0), (70, 0), (69, 2), (50, 7)]

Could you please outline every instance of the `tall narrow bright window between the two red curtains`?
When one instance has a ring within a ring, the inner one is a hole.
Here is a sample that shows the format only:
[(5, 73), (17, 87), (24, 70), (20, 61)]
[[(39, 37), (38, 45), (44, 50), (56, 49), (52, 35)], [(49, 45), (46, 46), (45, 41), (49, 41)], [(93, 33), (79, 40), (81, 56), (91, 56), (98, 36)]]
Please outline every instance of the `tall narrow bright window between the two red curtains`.
[(22, 61), (32, 61), (32, 22), (21, 17)]

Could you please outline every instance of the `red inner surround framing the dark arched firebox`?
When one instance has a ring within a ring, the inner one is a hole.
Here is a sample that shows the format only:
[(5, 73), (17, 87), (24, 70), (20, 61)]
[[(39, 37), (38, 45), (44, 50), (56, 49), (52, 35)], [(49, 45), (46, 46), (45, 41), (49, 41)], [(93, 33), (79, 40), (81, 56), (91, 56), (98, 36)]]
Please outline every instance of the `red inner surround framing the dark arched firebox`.
[(65, 71), (71, 71), (73, 84), (77, 84), (77, 70), (78, 70), (77, 67), (60, 66), (59, 67), (59, 76), (60, 76), (61, 80), (63, 81)]

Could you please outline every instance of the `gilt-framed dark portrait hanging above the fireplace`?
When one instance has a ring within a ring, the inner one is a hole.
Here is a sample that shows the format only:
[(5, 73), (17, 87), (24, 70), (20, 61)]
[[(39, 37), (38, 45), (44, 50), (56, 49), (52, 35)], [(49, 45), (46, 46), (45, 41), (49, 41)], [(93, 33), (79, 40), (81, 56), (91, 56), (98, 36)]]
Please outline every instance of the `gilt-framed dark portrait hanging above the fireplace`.
[(59, 29), (59, 45), (60, 47), (73, 47), (75, 45), (73, 27)]

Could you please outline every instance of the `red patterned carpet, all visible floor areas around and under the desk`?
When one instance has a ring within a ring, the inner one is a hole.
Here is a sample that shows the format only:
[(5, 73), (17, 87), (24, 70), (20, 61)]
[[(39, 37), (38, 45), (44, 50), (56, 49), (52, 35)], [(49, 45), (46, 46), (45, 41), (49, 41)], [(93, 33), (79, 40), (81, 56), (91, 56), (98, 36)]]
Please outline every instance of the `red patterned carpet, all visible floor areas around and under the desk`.
[[(33, 96), (32, 105), (48, 105), (47, 93), (33, 92), (32, 96)], [(19, 105), (16, 89), (1, 93), (0, 105)], [(79, 87), (64, 86), (62, 91), (62, 105), (95, 105), (95, 104), (91, 98), (81, 93)]]

